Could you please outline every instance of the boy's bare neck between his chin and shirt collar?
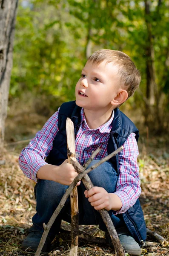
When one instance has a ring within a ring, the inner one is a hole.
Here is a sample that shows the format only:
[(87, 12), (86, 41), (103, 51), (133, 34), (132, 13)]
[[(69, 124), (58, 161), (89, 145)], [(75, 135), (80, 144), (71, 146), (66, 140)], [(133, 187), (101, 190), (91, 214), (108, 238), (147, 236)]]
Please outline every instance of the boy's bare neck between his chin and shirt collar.
[(114, 108), (109, 109), (106, 113), (101, 111), (91, 111), (84, 109), (84, 114), (86, 117), (86, 122), (90, 129), (97, 129), (101, 125), (105, 124), (112, 117), (112, 111)]

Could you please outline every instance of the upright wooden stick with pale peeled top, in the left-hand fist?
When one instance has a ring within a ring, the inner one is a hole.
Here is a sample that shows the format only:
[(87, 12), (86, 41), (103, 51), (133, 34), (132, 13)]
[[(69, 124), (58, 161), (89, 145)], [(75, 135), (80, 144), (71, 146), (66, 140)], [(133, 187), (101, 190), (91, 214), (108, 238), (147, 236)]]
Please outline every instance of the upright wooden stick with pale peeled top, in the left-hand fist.
[[(67, 136), (67, 152), (68, 162), (70, 157), (75, 157), (75, 140), (74, 140), (74, 125), (70, 118), (66, 119), (66, 136)], [(77, 186), (74, 187), (70, 194), (71, 205), (71, 248), (70, 256), (77, 256), (78, 235), (79, 235), (79, 208)]]

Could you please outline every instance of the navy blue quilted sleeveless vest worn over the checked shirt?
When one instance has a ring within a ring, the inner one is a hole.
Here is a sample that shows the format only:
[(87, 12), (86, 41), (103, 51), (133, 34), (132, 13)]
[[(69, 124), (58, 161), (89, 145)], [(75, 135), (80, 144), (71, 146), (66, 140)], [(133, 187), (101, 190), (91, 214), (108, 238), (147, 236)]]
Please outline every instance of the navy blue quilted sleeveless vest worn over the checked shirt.
[[(46, 159), (47, 163), (60, 165), (67, 159), (66, 118), (69, 117), (72, 119), (72, 122), (74, 123), (74, 134), (77, 134), (81, 120), (80, 111), (81, 108), (76, 105), (75, 101), (65, 102), (61, 105), (59, 111), (59, 131), (54, 138), (53, 148)], [(112, 130), (107, 145), (108, 154), (123, 145), (132, 132), (136, 134), (135, 138), (138, 141), (139, 133), (136, 126), (125, 114), (116, 108), (112, 122)], [(118, 154), (115, 157), (112, 157), (110, 161), (112, 162), (114, 169), (119, 173)], [(146, 224), (138, 199), (134, 206), (123, 213), (123, 219), (134, 239), (140, 245), (143, 245), (143, 241), (146, 240)]]

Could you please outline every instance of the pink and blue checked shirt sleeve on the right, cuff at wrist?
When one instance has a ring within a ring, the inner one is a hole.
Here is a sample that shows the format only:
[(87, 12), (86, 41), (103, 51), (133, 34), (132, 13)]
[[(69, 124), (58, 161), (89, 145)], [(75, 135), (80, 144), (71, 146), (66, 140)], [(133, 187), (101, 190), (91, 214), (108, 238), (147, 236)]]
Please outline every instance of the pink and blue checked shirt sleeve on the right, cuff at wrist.
[(130, 134), (123, 147), (124, 149), (119, 153), (119, 177), (115, 192), (122, 201), (122, 208), (116, 214), (126, 212), (132, 207), (141, 193), (137, 165), (139, 153), (134, 133)]

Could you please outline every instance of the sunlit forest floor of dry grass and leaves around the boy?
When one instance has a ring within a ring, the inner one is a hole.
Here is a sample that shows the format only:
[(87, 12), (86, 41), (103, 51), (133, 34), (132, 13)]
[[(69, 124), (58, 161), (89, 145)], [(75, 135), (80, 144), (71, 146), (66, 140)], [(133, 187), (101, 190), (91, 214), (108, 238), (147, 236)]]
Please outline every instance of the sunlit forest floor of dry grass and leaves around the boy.
[[(17, 139), (15, 137), (10, 140)], [(4, 165), (0, 166), (0, 256), (34, 256), (31, 250), (23, 251), (21, 248), (28, 228), (32, 226), (36, 203), (35, 183), (23, 175), (18, 165), (20, 148), (23, 148), (23, 144), (9, 145), (8, 141), (6, 149), (0, 149), (0, 160), (5, 160)], [(142, 186), (140, 202), (146, 226), (169, 241), (169, 142), (166, 138), (140, 140), (139, 149), (138, 163)], [(62, 227), (70, 230), (70, 224), (64, 221)], [(95, 225), (80, 226), (79, 230), (92, 236), (104, 237), (104, 232)], [(109, 245), (79, 240), (79, 256), (114, 256)], [(155, 242), (149, 236), (147, 241)], [(68, 256), (69, 246), (69, 235), (61, 233), (53, 242), (52, 251), (41, 255)], [(142, 254), (169, 256), (169, 247), (159, 245), (143, 248)]]

